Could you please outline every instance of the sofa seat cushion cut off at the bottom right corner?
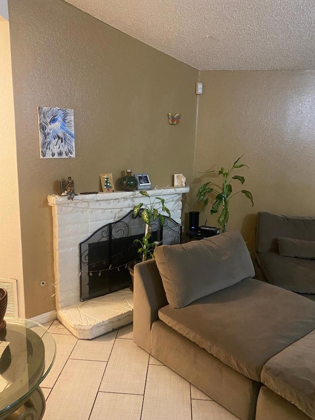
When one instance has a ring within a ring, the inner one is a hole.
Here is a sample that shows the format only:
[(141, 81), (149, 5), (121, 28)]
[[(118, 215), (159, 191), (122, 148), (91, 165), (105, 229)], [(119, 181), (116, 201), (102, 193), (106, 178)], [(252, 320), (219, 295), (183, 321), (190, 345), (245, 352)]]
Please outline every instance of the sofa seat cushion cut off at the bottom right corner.
[(261, 382), (315, 419), (315, 331), (268, 360)]

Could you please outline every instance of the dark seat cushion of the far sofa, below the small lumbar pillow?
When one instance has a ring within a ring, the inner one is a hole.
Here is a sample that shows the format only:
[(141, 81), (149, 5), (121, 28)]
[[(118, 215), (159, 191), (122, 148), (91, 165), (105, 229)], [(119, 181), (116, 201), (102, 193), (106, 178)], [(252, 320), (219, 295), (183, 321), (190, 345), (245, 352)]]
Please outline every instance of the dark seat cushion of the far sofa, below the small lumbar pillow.
[(262, 252), (256, 257), (268, 283), (296, 293), (315, 293), (314, 260), (282, 257), (278, 252)]

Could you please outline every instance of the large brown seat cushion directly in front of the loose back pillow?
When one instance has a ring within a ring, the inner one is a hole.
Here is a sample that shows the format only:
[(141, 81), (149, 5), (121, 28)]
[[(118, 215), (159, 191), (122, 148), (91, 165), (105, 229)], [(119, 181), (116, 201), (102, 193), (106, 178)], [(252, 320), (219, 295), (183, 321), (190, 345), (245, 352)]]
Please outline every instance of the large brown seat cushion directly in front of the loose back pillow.
[(263, 365), (315, 328), (315, 303), (255, 279), (158, 311), (161, 321), (237, 372), (260, 381)]

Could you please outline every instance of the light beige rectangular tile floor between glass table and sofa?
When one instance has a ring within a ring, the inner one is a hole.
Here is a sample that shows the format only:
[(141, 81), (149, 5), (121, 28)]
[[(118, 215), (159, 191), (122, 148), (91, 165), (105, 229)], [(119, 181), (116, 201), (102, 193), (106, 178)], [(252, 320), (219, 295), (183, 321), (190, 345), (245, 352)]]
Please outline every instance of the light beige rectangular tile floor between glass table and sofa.
[(199, 389), (137, 347), (132, 325), (78, 340), (58, 321), (57, 344), (40, 387), (43, 420), (237, 420)]

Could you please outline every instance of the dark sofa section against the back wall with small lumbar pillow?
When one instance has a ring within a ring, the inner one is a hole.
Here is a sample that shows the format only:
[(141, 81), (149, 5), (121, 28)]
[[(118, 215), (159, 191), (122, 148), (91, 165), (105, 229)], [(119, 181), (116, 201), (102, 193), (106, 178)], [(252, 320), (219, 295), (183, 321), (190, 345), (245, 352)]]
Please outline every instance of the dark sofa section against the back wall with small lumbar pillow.
[(315, 217), (257, 213), (255, 278), (315, 300)]

